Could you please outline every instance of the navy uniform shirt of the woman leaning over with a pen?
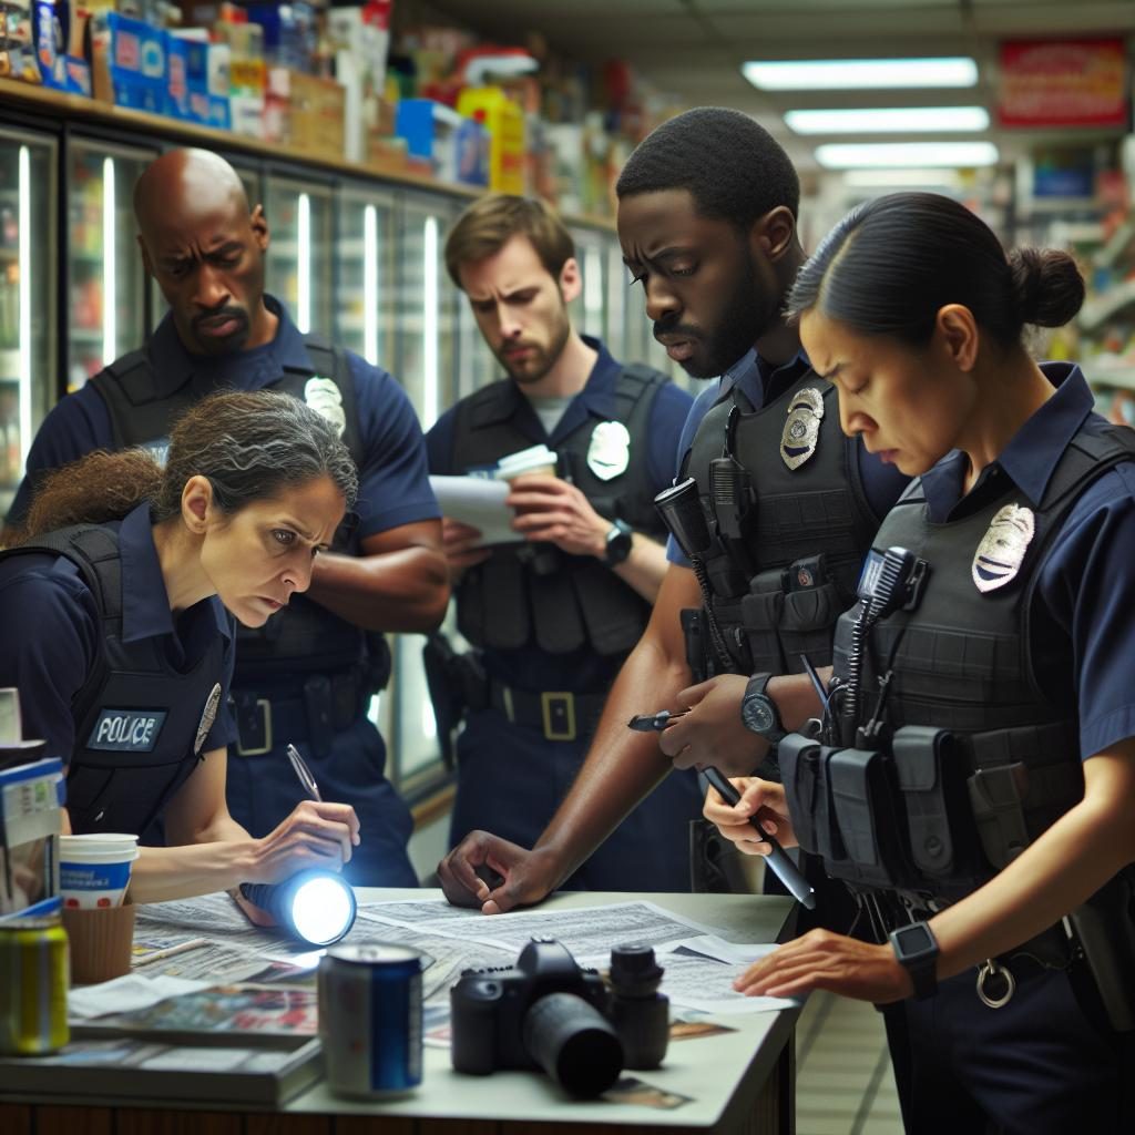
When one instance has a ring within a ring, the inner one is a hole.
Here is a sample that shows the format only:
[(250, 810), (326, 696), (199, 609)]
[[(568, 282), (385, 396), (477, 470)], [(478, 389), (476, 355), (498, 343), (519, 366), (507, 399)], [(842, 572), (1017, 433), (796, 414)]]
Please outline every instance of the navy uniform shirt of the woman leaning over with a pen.
[[(123, 571), (123, 641), (154, 639), (173, 667), (196, 665), (218, 634), (225, 638), (221, 705), (233, 678), (233, 619), (212, 596), (177, 617), (169, 609), (166, 582), (153, 544), (148, 505), (136, 507), (118, 528)], [(102, 649), (98, 604), (78, 569), (51, 554), (12, 556), (0, 562), (0, 686), (15, 686), (24, 735), (44, 738), (48, 754), (70, 760), (75, 748), (72, 698), (82, 689)], [(201, 748), (224, 748), (235, 732), (218, 714)], [(193, 738), (186, 739), (191, 745)]]

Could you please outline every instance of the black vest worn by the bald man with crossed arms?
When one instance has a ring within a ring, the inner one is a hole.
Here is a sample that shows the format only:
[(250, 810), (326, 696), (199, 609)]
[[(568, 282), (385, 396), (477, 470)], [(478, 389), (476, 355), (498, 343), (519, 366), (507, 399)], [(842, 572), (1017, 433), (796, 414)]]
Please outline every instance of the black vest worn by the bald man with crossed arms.
[[(320, 338), (304, 336), (312, 370), (285, 368), (284, 375), (266, 389), (305, 398), (308, 384), (330, 379), (342, 400), (346, 429), (343, 442), (362, 469), (365, 454), (359, 429), (354, 380), (346, 356)], [(112, 362), (91, 379), (110, 412), (115, 445), (142, 445), (165, 457), (169, 430), (178, 415), (201, 398), (217, 392), (208, 371), (191, 377), (160, 373), (145, 350), (133, 351)], [(346, 529), (336, 533), (331, 550), (358, 554), (358, 541)], [(358, 627), (331, 614), (302, 595), (260, 628), (238, 627), (236, 687), (255, 688), (264, 678), (342, 671), (385, 656), (379, 636), (364, 636)], [(368, 647), (369, 644), (369, 647)], [(381, 684), (377, 682), (376, 684)]]

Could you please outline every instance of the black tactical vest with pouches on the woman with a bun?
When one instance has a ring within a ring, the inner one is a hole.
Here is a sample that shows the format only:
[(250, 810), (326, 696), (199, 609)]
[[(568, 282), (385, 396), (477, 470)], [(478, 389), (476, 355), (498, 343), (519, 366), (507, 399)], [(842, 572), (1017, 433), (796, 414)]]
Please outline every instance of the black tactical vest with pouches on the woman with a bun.
[[(928, 570), (915, 608), (881, 620), (861, 654), (857, 724), (873, 716), (881, 678), (892, 675), (882, 738), (840, 748), (793, 734), (780, 746), (797, 835), (830, 875), (957, 899), (1083, 798), (1073, 644), (1039, 629), (1039, 568), (1084, 490), (1132, 460), (1132, 431), (1090, 424), (1029, 516), (1015, 511), (1027, 501), (1009, 484), (935, 523), (917, 481), (888, 515), (876, 548), (907, 548)], [(983, 591), (975, 578), (995, 586)], [(836, 631), (841, 678), (855, 670), (860, 609)]]

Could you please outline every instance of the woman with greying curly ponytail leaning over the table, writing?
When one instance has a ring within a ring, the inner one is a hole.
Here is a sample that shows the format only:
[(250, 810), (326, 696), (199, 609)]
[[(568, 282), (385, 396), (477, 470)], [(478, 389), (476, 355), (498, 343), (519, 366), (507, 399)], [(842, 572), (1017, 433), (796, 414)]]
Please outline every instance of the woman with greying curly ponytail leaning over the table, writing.
[(165, 469), (129, 449), (59, 470), (0, 557), (0, 686), (67, 764), (69, 830), (163, 824), (135, 902), (337, 869), (359, 843), (346, 804), (304, 801), (255, 840), (225, 804), (233, 616), (263, 625), (306, 589), (356, 489), (302, 402), (218, 394), (176, 424)]

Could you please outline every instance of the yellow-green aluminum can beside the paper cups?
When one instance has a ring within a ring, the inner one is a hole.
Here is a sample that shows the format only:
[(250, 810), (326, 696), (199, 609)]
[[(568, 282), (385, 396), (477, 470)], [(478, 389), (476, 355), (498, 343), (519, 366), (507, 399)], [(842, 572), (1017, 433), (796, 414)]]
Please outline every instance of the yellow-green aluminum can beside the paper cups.
[(0, 1054), (54, 1052), (70, 1040), (69, 978), (58, 918), (0, 922)]

